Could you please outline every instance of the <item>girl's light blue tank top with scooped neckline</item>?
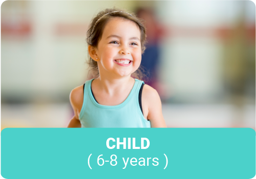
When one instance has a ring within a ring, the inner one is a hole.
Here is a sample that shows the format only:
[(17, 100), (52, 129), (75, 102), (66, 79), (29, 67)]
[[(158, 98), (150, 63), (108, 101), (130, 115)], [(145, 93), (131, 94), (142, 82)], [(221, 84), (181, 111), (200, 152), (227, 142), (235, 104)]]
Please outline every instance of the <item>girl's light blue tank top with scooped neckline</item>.
[(130, 94), (120, 105), (105, 106), (97, 103), (92, 95), (92, 80), (86, 81), (84, 86), (83, 106), (79, 115), (81, 127), (150, 127), (150, 121), (144, 118), (138, 103), (143, 81), (135, 79)]

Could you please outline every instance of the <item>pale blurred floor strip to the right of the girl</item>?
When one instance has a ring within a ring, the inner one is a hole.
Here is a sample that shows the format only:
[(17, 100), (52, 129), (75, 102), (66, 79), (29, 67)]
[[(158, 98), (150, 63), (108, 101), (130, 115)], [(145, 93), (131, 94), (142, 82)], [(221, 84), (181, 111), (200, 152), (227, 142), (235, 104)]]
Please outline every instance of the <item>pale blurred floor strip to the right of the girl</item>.
[[(256, 106), (163, 105), (168, 127), (250, 127), (256, 130)], [(239, 116), (239, 118), (238, 118)]]

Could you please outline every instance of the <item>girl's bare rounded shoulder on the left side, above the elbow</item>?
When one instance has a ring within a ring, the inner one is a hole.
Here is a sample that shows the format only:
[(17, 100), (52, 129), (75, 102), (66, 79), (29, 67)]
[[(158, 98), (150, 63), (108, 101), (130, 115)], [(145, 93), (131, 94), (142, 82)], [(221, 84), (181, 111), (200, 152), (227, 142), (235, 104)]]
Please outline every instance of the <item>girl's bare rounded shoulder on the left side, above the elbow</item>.
[(83, 85), (78, 86), (71, 91), (69, 100), (73, 108), (79, 108), (80, 106), (82, 107), (84, 96), (83, 92)]

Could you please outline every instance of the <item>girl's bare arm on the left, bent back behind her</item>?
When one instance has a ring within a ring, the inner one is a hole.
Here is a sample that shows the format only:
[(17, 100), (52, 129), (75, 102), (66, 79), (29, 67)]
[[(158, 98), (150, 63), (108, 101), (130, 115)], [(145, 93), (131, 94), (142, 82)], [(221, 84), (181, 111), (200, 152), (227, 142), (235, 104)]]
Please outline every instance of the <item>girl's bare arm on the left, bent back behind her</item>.
[(76, 87), (71, 91), (69, 100), (75, 115), (71, 119), (67, 127), (81, 127), (79, 114), (83, 105), (83, 85)]

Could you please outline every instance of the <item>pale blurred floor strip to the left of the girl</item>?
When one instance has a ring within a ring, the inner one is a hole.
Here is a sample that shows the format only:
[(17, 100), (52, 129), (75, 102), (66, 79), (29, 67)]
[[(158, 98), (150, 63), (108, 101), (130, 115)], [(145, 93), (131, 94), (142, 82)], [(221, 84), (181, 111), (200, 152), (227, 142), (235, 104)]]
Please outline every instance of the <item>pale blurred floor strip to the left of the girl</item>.
[(69, 104), (1, 104), (1, 131), (5, 127), (65, 127), (71, 117)]

